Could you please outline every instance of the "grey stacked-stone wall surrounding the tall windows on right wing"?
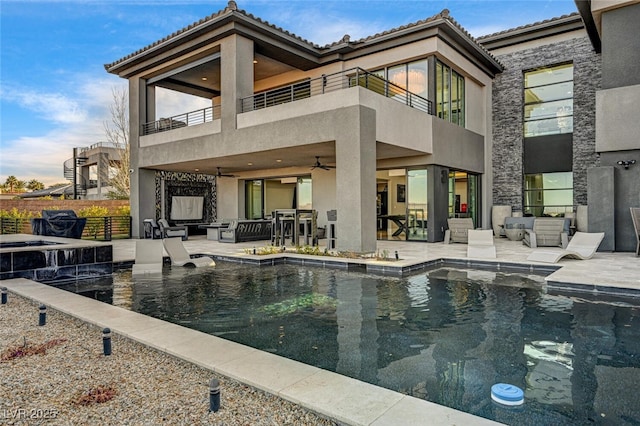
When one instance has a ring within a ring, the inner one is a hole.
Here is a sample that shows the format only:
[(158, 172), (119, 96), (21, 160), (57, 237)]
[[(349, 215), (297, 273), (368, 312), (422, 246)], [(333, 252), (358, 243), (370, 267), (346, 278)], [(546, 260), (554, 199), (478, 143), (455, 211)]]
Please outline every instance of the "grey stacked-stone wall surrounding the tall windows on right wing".
[(573, 202), (587, 204), (587, 169), (595, 153), (596, 91), (601, 84), (601, 56), (585, 36), (505, 55), (505, 67), (493, 81), (493, 203), (522, 211), (524, 72), (573, 63)]

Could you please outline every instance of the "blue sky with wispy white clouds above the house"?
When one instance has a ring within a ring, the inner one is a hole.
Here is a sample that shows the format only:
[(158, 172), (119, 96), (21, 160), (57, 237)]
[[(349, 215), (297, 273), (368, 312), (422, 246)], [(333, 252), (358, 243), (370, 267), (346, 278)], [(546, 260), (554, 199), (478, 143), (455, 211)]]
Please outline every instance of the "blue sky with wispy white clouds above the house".
[[(449, 9), (479, 37), (576, 12), (574, 0), (237, 0), (238, 8), (325, 45), (357, 40)], [(65, 182), (74, 147), (105, 141), (112, 63), (200, 19), (226, 0), (0, 1), (0, 183)], [(196, 108), (176, 101), (175, 114)], [(187, 109), (179, 109), (187, 108)], [(172, 115), (172, 114), (167, 114)]]

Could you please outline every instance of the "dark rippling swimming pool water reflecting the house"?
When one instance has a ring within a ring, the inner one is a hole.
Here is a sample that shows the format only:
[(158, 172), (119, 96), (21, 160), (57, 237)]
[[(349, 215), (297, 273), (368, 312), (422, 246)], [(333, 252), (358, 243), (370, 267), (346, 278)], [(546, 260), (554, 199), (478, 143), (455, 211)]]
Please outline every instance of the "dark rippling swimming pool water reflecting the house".
[[(62, 288), (506, 424), (640, 424), (640, 300), (547, 294), (538, 275), (219, 262)], [(493, 402), (496, 383), (524, 405)]]

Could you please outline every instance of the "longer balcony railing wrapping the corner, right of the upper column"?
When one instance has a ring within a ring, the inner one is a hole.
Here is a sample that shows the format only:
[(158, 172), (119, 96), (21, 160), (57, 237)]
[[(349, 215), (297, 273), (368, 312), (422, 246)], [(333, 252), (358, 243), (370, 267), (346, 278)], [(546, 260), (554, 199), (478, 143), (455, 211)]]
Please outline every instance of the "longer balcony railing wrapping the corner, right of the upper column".
[(361, 68), (323, 75), (322, 77), (297, 82), (289, 86), (255, 93), (252, 96), (241, 99), (241, 111), (249, 112), (269, 108), (310, 98), (311, 96), (348, 89), (356, 85), (433, 115), (433, 106), (430, 100), (411, 93)]

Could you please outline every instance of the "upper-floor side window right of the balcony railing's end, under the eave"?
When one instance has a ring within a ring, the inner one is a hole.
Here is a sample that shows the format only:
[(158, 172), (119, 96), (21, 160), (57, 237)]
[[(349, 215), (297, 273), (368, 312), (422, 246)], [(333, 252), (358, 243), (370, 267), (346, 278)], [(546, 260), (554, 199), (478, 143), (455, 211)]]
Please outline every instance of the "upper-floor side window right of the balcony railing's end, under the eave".
[(436, 115), (464, 127), (464, 77), (436, 61)]

